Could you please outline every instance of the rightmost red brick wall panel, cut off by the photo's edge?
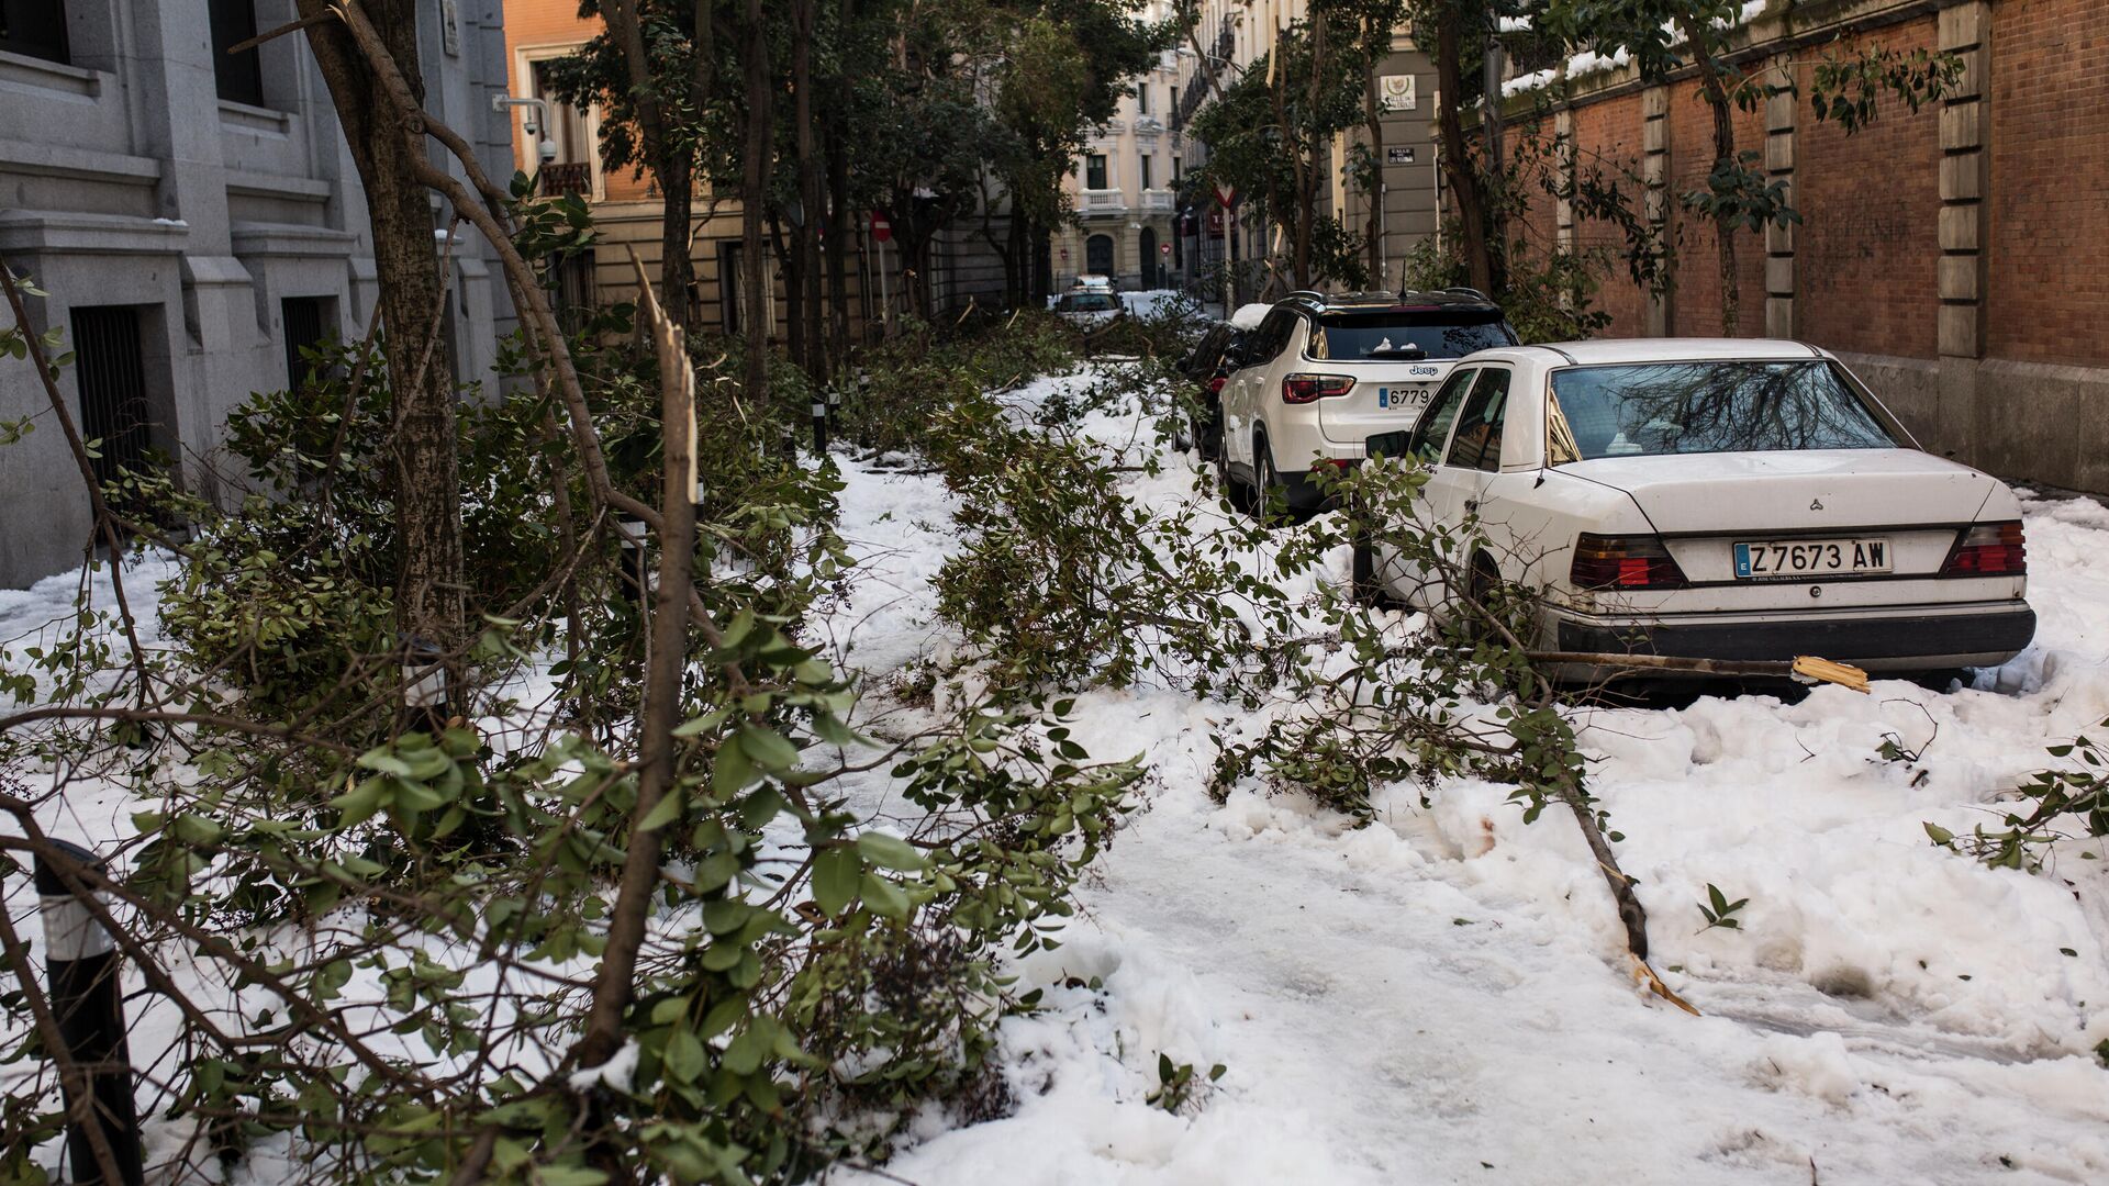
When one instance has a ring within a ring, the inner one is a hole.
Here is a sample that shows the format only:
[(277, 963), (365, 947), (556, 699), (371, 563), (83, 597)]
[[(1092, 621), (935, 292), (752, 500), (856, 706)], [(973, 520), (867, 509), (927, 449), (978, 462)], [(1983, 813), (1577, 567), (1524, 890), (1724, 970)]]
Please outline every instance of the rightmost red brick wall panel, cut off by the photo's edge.
[(2103, 0), (1991, 11), (1987, 346), (2109, 365), (2109, 13)]

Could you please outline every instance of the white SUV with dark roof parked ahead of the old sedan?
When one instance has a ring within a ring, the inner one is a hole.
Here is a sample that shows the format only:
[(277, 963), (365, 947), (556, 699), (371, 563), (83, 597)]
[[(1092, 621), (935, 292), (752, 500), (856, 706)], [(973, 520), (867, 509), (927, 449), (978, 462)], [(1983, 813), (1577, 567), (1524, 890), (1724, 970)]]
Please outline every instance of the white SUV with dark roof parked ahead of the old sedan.
[(1223, 384), (1217, 466), (1232, 500), (1318, 511), (1314, 468), (1354, 464), (1371, 437), (1411, 431), (1457, 359), (1512, 344), (1502, 308), (1472, 289), (1291, 293), (1244, 336)]

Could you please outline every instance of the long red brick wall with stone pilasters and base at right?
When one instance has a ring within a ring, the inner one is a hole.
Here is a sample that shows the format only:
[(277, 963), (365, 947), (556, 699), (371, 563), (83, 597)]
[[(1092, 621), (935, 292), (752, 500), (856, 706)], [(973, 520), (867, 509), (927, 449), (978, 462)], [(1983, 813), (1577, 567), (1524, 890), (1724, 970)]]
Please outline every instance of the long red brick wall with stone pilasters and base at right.
[[(2109, 492), (2109, 25), (2101, 0), (1772, 0), (1736, 34), (1769, 99), (1736, 112), (1738, 150), (1763, 152), (1799, 226), (1738, 243), (1740, 333), (1845, 357), (1940, 454), (2010, 479)], [(1919, 112), (1883, 97), (1845, 135), (1807, 99), (1826, 53), (1953, 53), (1957, 84)], [(1563, 78), (1508, 103), (1516, 135), (1554, 160), (1637, 181), (1677, 241), (1656, 295), (1607, 268), (1613, 336), (1719, 333), (1715, 230), (1679, 209), (1713, 165), (1710, 112), (1689, 76)], [(1624, 249), (1537, 192), (1531, 238)]]

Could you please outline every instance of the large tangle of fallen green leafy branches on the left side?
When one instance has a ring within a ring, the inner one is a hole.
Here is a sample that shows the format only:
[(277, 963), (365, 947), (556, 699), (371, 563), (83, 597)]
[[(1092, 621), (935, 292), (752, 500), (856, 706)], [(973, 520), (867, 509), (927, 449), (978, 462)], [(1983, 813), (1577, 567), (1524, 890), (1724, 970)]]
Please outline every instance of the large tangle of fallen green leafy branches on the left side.
[[(1069, 365), (1040, 333), (903, 350), (894, 403), (863, 412), (896, 441), (979, 407), (991, 374)], [(652, 359), (576, 361), (605, 481), (650, 506), (669, 468)], [(860, 707), (886, 690), (812, 635), (854, 572), (833, 462), (782, 449), (799, 409), (696, 409), (692, 595), (647, 614), (660, 536), (626, 559), (542, 382), (464, 414), (483, 627), (443, 709), (405, 713), (386, 393), (348, 363), (238, 416), (236, 509), (156, 492), (194, 523), (152, 561), (158, 616), (84, 593), (0, 682), (38, 709), (0, 732), (0, 772), (34, 772), (0, 783), (4, 846), (101, 895), (154, 990), (135, 1061), (165, 1156), (346, 1182), (797, 1182), (886, 1156), (920, 1116), (998, 1114), (995, 1026), (1031, 1007), (1006, 960), (1073, 912), (1139, 770), (1092, 762), (1069, 705), (1029, 694)], [(690, 661), (652, 732), (637, 705), (669, 625)], [(133, 629), (173, 646), (131, 648)], [(53, 844), (80, 796), (129, 819), (108, 869)], [(0, 956), (36, 975), (13, 939)], [(11, 1083), (0, 1137), (0, 1180), (30, 1182), (61, 1097), (21, 992), (0, 994), (0, 1042), (46, 1068)]]

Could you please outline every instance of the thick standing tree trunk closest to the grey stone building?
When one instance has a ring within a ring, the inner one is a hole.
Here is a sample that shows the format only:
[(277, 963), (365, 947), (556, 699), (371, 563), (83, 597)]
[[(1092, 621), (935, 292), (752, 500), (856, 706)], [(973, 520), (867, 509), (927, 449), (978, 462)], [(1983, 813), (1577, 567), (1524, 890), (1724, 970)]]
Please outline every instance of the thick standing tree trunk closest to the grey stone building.
[[(367, 0), (367, 15), (422, 106), (418, 68), (418, 2)], [(314, 17), (325, 0), (299, 0)], [(344, 139), (367, 192), (373, 230), (373, 272), (380, 283), (388, 382), (394, 397), (388, 443), (394, 487), (396, 563), (394, 616), (399, 646), (428, 644), (445, 654), (449, 703), (462, 703), (460, 650), (468, 639), (462, 561), (462, 483), (456, 447), (451, 350), (439, 344), (447, 300), (432, 249), (432, 205), (418, 177), (424, 137), (382, 116), (388, 103), (359, 44), (337, 21), (308, 25), (323, 82), (329, 87)]]

